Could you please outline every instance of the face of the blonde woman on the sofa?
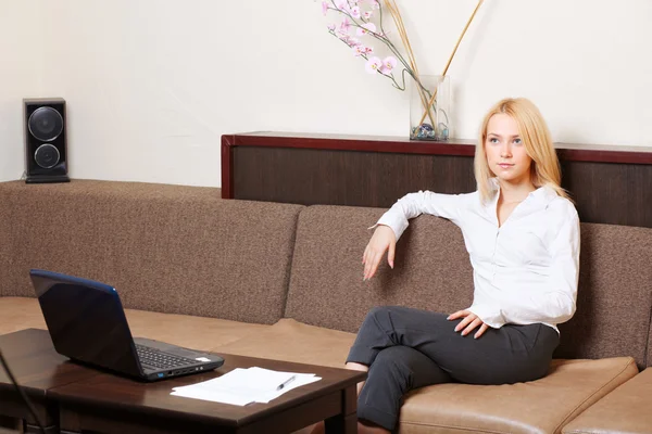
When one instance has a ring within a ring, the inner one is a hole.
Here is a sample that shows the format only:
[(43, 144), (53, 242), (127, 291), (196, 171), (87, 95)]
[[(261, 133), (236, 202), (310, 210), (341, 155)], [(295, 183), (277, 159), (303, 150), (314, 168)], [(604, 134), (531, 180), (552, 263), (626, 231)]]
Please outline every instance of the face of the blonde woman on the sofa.
[(530, 182), (532, 159), (525, 152), (516, 120), (510, 115), (499, 113), (489, 119), (485, 153), (489, 168), (499, 180), (514, 184)]

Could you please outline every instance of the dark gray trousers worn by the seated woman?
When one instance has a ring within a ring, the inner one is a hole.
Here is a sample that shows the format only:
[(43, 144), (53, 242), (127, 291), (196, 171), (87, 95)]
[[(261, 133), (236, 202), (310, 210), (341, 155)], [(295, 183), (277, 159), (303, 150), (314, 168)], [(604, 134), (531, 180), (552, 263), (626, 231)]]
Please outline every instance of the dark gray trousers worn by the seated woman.
[(478, 329), (462, 336), (462, 319), (398, 306), (373, 308), (347, 361), (369, 367), (358, 398), (358, 418), (393, 431), (403, 395), (431, 384), (512, 384), (548, 373), (557, 332), (540, 323)]

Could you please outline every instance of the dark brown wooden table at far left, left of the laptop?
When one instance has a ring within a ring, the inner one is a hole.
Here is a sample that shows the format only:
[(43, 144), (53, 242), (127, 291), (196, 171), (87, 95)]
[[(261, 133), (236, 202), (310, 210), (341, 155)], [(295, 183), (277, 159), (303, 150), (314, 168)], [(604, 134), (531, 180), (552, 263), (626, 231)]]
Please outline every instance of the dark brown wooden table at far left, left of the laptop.
[[(48, 397), (48, 391), (90, 379), (98, 372), (57, 354), (46, 330), (27, 329), (0, 335), (0, 349), (47, 431), (58, 433), (59, 407)], [(0, 416), (22, 420), (26, 431), (37, 432), (36, 421), (1, 366)]]

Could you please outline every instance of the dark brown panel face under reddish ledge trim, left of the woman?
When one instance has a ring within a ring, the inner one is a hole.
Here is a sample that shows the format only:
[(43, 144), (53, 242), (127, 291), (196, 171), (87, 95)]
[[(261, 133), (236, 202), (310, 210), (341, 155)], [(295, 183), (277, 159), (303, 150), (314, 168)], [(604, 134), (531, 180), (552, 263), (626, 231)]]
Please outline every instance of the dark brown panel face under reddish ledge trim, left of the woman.
[(236, 148), (234, 197), (387, 207), (417, 190), (475, 190), (473, 158), (284, 148)]

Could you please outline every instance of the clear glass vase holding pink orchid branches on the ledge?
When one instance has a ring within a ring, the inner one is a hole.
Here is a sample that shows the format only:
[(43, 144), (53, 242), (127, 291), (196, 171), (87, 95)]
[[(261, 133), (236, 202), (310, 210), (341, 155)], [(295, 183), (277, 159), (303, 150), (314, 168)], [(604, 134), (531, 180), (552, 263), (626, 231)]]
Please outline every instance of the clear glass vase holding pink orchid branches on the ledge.
[(451, 85), (449, 76), (422, 75), (410, 92), (410, 140), (448, 140)]

